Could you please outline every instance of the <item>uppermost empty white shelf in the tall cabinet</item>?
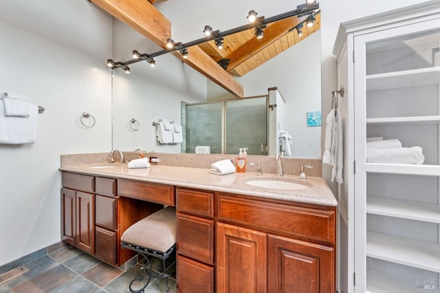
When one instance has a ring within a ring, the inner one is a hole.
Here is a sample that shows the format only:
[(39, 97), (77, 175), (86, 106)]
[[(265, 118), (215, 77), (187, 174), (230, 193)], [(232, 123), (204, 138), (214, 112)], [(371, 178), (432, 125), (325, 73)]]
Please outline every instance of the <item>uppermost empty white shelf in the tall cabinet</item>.
[(440, 67), (404, 70), (384, 74), (366, 76), (366, 90), (397, 89), (401, 87), (421, 87), (423, 85), (438, 85)]

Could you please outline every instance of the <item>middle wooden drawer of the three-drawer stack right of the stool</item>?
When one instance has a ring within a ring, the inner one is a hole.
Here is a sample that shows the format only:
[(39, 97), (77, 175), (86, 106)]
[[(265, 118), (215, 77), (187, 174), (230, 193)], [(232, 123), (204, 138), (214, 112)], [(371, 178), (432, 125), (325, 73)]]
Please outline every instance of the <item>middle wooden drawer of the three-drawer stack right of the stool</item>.
[(214, 264), (214, 221), (177, 213), (177, 252)]

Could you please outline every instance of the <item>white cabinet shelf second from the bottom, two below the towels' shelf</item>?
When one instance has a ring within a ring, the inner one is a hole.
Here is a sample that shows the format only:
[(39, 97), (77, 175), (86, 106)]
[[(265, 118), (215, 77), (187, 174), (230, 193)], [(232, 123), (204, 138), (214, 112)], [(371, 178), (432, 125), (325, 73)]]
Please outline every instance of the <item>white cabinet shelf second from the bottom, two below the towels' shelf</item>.
[(437, 243), (367, 231), (366, 256), (440, 272), (440, 245)]

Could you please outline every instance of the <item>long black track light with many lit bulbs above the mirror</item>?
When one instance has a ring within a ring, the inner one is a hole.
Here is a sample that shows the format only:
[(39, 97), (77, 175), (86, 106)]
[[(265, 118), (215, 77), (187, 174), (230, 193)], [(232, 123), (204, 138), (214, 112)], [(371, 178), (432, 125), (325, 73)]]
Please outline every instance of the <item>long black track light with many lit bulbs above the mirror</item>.
[[(307, 26), (307, 28), (310, 28), (314, 25), (315, 23), (314, 13), (319, 13), (316, 12), (317, 10), (319, 11), (319, 3), (317, 3), (316, 0), (305, 0), (305, 3), (301, 4), (300, 6), (297, 6), (296, 10), (285, 12), (283, 14), (278, 14), (268, 19), (265, 19), (265, 17), (259, 17), (257, 19), (257, 13), (255, 12), (255, 10), (250, 10), (247, 19), (252, 24), (241, 25), (238, 28), (233, 28), (232, 30), (227, 30), (224, 32), (220, 32), (219, 30), (213, 31), (210, 25), (205, 25), (205, 28), (203, 29), (203, 34), (205, 34), (205, 36), (201, 39), (190, 41), (188, 43), (180, 43), (180, 42), (175, 43), (173, 39), (167, 39), (166, 48), (162, 50), (159, 50), (151, 54), (140, 54), (140, 52), (138, 52), (137, 50), (133, 50), (132, 60), (126, 62), (114, 62), (112, 59), (107, 59), (107, 66), (111, 67), (111, 69), (122, 68), (124, 72), (128, 74), (130, 72), (130, 67), (128, 67), (127, 65), (130, 65), (132, 63), (137, 63), (140, 61), (146, 61), (151, 67), (155, 67), (156, 63), (153, 58), (175, 51), (179, 51), (182, 58), (188, 58), (188, 47), (199, 45), (201, 43), (205, 43), (206, 41), (212, 41), (212, 40), (214, 40), (217, 49), (221, 50), (223, 49), (223, 41), (224, 41), (223, 38), (225, 36), (230, 36), (232, 34), (236, 34), (237, 32), (244, 32), (250, 29), (254, 29), (256, 39), (261, 39), (264, 36), (264, 30), (265, 28), (267, 28), (268, 24), (294, 16), (298, 18), (307, 17), (307, 21), (303, 23), (299, 23), (298, 25), (296, 25), (295, 27), (289, 30), (289, 32), (293, 32), (294, 30), (297, 30), (298, 36), (302, 36), (303, 34), (301, 29), (303, 28), (304, 24)], [(229, 62), (230, 59), (222, 59), (221, 61), (219, 61), (218, 64), (223, 69), (226, 69), (228, 67)]]

